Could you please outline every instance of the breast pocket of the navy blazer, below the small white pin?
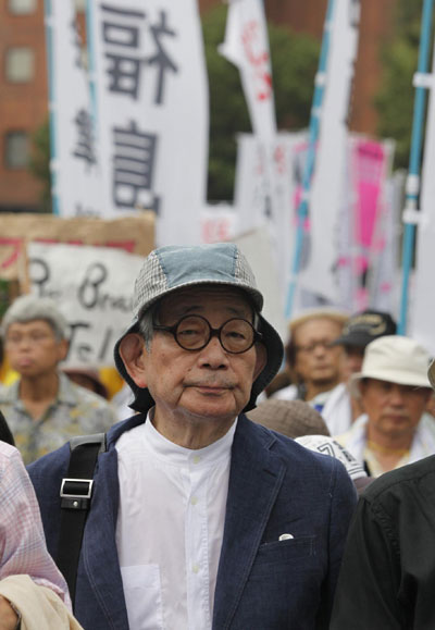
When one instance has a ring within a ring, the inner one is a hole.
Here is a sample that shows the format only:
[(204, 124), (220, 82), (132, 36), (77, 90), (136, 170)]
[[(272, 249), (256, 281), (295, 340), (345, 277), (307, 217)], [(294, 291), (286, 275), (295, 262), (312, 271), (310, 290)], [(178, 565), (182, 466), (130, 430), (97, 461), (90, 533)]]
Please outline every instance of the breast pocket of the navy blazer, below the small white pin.
[(316, 566), (316, 536), (301, 536), (260, 545), (250, 579), (286, 572), (313, 570)]

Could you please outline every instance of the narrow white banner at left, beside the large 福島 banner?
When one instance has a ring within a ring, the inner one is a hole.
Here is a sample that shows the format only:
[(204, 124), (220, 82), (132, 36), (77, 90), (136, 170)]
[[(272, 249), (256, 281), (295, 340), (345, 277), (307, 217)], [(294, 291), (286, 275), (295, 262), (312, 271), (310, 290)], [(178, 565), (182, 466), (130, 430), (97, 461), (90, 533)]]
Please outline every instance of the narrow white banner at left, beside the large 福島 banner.
[(47, 7), (55, 211), (62, 217), (98, 215), (102, 210), (101, 178), (75, 2), (51, 0)]

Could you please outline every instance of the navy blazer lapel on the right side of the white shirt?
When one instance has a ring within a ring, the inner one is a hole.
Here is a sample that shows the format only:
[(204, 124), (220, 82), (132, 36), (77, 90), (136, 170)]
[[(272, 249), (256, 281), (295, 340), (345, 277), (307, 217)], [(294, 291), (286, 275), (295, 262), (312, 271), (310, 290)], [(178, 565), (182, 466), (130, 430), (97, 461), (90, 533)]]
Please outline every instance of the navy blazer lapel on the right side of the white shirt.
[(275, 437), (240, 416), (234, 436), (225, 528), (214, 595), (213, 628), (225, 629), (245, 583), (284, 479), (270, 452)]

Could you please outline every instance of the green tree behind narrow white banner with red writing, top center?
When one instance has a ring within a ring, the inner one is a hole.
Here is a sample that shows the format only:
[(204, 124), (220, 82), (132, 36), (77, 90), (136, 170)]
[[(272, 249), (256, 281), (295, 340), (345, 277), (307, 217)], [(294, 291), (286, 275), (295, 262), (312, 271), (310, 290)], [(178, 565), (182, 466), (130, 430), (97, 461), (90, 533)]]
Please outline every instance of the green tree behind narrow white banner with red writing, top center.
[[(208, 197), (231, 200), (237, 153), (237, 134), (251, 132), (238, 70), (217, 50), (224, 40), (226, 7), (217, 5), (202, 17), (210, 88), (210, 159)], [(320, 44), (269, 24), (269, 39), (278, 128), (308, 126)]]

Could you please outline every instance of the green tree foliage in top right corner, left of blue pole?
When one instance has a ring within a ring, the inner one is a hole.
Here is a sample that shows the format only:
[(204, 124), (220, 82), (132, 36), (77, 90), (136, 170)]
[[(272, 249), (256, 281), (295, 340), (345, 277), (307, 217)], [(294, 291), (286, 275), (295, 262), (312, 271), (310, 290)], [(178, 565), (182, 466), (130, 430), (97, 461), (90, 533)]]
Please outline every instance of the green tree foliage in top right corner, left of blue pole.
[(395, 166), (407, 169), (412, 135), (422, 0), (398, 0), (393, 41), (383, 50), (383, 81), (375, 99), (380, 115), (377, 133), (396, 140)]

